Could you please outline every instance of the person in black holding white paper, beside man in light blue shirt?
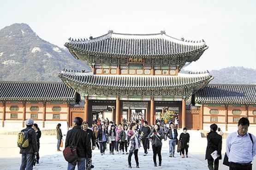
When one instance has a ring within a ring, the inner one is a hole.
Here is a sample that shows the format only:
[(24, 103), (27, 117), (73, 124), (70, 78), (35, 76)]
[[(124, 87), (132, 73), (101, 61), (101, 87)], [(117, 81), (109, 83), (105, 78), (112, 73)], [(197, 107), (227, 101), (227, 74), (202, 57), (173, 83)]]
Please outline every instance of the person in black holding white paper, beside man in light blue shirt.
[[(208, 161), (209, 170), (219, 170), (219, 160), (221, 159), (222, 137), (216, 132), (218, 126), (216, 124), (210, 125), (211, 131), (207, 135), (207, 147), (205, 159)], [(217, 159), (213, 159), (211, 153), (217, 151)]]

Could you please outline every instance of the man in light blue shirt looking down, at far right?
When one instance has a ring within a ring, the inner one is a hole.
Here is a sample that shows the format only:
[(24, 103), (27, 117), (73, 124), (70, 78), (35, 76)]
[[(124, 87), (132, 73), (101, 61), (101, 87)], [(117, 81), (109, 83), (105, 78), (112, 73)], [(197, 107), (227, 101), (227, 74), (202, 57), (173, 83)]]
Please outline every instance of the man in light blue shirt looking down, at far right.
[(256, 137), (247, 133), (250, 122), (247, 118), (238, 121), (238, 131), (226, 139), (226, 155), (230, 162), (229, 170), (251, 170), (256, 155)]

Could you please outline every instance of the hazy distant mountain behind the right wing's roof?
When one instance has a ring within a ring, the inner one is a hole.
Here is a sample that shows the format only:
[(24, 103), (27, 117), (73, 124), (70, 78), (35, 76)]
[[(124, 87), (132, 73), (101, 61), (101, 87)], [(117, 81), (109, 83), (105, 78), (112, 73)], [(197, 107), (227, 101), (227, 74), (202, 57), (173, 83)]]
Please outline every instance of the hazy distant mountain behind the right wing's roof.
[(212, 70), (214, 76), (211, 84), (256, 84), (256, 69), (244, 67), (228, 67)]

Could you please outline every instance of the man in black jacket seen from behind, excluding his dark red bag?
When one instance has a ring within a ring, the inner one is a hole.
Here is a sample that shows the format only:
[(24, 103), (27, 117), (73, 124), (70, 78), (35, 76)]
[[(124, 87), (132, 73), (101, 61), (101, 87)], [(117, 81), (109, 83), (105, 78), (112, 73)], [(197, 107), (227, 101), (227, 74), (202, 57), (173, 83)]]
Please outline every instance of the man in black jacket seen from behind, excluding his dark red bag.
[(78, 159), (75, 164), (68, 163), (67, 170), (75, 170), (76, 164), (78, 170), (85, 170), (86, 156), (91, 161), (92, 151), (90, 146), (89, 134), (82, 130), (83, 119), (76, 117), (74, 119), (74, 127), (69, 130), (66, 135), (65, 147), (75, 146), (77, 143), (77, 155)]

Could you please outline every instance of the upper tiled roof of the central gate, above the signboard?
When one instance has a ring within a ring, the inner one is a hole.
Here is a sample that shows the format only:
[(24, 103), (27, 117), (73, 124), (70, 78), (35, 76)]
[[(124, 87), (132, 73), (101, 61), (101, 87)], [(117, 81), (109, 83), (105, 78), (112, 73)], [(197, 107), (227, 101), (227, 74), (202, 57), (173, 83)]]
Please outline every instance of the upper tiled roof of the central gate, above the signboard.
[[(71, 40), (65, 43), (71, 51), (115, 56), (175, 56), (205, 51), (203, 40), (178, 40), (161, 31), (159, 34), (108, 34), (90, 40)], [(74, 53), (72, 53), (74, 54)], [(199, 57), (202, 55), (197, 54)], [(196, 57), (198, 59), (198, 57)]]

